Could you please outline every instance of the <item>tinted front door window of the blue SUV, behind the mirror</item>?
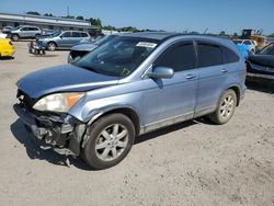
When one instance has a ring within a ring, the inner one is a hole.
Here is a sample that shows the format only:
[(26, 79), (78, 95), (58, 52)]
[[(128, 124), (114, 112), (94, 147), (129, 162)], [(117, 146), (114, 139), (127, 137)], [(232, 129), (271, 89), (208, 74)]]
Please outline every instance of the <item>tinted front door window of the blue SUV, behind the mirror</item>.
[(175, 72), (195, 67), (195, 52), (192, 43), (181, 43), (168, 48), (155, 62), (156, 67), (169, 67)]

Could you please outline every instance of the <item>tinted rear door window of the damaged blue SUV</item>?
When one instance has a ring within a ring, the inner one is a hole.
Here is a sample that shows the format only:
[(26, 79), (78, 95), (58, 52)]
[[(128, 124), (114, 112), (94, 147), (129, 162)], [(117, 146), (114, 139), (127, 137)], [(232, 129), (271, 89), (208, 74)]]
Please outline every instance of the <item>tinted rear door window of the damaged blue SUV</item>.
[(210, 67), (221, 64), (222, 54), (219, 46), (198, 43), (198, 67)]

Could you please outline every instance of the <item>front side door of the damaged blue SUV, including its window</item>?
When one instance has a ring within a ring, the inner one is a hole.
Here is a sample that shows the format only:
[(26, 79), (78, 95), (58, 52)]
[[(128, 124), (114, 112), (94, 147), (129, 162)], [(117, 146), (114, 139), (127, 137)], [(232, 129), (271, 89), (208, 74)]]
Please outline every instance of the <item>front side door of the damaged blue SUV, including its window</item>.
[(156, 67), (174, 70), (171, 79), (146, 79), (144, 94), (144, 126), (170, 123), (172, 119), (191, 118), (196, 104), (198, 73), (193, 42), (170, 46), (153, 62)]

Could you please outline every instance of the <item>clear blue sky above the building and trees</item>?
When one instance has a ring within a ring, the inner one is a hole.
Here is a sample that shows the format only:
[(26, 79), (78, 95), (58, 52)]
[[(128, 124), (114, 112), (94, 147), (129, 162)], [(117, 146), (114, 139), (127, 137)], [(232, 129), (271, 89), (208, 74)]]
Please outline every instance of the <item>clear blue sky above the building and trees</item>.
[[(12, 2), (12, 3), (11, 3)], [(100, 18), (103, 25), (170, 32), (274, 33), (274, 0), (0, 0), (0, 12)]]

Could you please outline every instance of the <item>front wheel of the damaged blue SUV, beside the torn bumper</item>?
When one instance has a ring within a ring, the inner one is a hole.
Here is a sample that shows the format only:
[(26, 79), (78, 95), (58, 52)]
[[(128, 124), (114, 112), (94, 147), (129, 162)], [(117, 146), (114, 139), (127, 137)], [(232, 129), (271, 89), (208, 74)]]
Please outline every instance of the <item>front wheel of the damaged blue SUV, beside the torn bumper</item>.
[(87, 135), (82, 158), (91, 168), (102, 170), (118, 164), (127, 156), (134, 144), (135, 127), (127, 116), (115, 113), (92, 124)]

